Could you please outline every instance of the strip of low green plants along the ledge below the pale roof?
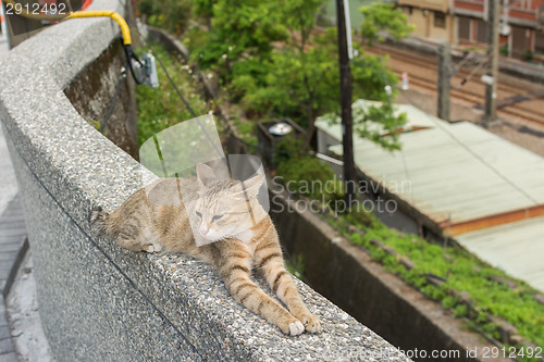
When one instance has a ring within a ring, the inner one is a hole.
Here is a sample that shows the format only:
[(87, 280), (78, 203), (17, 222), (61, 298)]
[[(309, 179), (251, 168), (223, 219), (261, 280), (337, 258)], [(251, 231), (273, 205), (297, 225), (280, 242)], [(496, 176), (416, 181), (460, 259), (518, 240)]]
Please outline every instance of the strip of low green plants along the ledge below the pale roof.
[[(372, 259), (380, 261), (384, 267), (399, 275), (430, 298), (440, 301), (446, 309), (453, 309), (456, 316), (469, 315), (467, 305), (454, 297), (454, 291), (466, 291), (472, 300), (475, 315), (471, 316), (479, 329), (499, 339), (496, 326), (490, 323), (487, 315), (496, 315), (512, 324), (519, 335), (537, 346), (544, 345), (544, 305), (533, 297), (536, 291), (521, 280), (516, 280), (518, 287), (510, 289), (490, 279), (500, 276), (511, 279), (503, 271), (480, 261), (473, 254), (456, 247), (441, 247), (418, 236), (407, 235), (387, 228), (373, 217), (369, 226), (353, 223), (349, 215), (339, 220), (330, 220), (349, 240), (369, 249)], [(353, 223), (364, 232), (348, 233), (347, 225)], [(380, 240), (392, 247), (400, 255), (409, 258), (416, 265), (408, 271), (398, 263), (398, 258), (386, 253), (370, 242)], [(435, 286), (426, 280), (428, 274), (444, 278), (443, 285)], [(528, 358), (521, 361), (530, 361)]]

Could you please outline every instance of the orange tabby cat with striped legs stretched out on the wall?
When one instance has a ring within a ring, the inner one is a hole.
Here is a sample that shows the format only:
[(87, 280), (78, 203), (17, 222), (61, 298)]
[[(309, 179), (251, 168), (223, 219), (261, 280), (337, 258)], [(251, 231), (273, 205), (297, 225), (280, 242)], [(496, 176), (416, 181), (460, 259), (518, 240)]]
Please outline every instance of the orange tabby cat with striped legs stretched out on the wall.
[[(276, 229), (257, 201), (262, 176), (245, 182), (244, 198), (239, 183), (217, 179), (206, 165), (197, 166), (197, 176), (198, 180), (161, 179), (131, 196), (111, 214), (94, 210), (89, 220), (128, 250), (182, 252), (212, 264), (239, 303), (286, 335), (319, 332), (318, 317), (285, 270)], [(185, 194), (195, 195), (191, 202), (173, 197), (180, 185)], [(195, 234), (191, 223), (198, 225)], [(198, 238), (218, 242), (197, 246)], [(283, 305), (251, 279), (254, 270), (263, 275)]]

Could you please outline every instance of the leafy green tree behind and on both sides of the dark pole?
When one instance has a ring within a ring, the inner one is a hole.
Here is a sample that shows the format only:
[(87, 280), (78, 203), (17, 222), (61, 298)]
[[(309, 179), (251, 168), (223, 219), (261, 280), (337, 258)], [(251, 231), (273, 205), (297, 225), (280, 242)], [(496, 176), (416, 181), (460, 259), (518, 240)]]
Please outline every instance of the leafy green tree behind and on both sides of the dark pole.
[[(214, 67), (233, 101), (240, 102), (252, 117), (289, 116), (307, 128), (306, 150), (319, 115), (339, 110), (339, 70), (336, 29), (314, 35), (321, 0), (198, 0), (212, 8), (211, 30), (206, 43), (194, 51), (202, 67)], [(409, 33), (406, 17), (391, 5), (374, 3), (361, 10), (363, 29), (388, 32), (396, 37)], [(202, 13), (199, 10), (199, 13)], [(368, 23), (368, 24), (367, 24)], [(378, 35), (366, 30), (369, 41)], [(378, 38), (379, 39), (379, 38)], [(280, 42), (281, 41), (281, 42)], [(397, 149), (396, 130), (405, 118), (391, 105), (386, 86), (397, 77), (383, 65), (383, 59), (358, 47), (351, 62), (354, 99), (386, 103), (369, 108), (354, 121), (362, 137)], [(391, 87), (390, 87), (391, 89)], [(394, 92), (393, 92), (394, 96)], [(370, 121), (382, 124), (379, 139)]]

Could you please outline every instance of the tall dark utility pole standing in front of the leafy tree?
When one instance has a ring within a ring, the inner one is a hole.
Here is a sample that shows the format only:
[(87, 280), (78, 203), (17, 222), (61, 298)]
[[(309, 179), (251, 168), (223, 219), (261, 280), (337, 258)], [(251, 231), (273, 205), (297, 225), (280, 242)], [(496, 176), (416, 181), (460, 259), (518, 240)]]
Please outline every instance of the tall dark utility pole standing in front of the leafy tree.
[(344, 183), (346, 186), (345, 200), (349, 207), (355, 201), (356, 174), (354, 164), (354, 117), (351, 114), (351, 70), (349, 67), (345, 14), (344, 0), (336, 0), (341, 71), (342, 145), (344, 151)]

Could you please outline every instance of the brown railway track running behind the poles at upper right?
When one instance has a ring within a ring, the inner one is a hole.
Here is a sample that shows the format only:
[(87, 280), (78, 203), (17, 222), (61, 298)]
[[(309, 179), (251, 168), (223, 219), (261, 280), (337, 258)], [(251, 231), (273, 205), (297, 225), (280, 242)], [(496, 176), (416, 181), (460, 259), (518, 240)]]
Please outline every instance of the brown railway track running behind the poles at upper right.
[[(379, 51), (369, 50), (371, 54), (388, 54), (388, 66), (397, 74), (400, 75), (407, 66), (410, 67), (409, 80), (410, 85), (422, 88), (428, 91), (437, 91), (437, 58), (432, 55), (422, 55), (406, 50), (399, 50), (392, 47), (381, 46)], [(472, 107), (483, 107), (485, 103), (485, 85), (480, 80), (481, 74), (474, 74), (470, 80), (470, 87), (467, 85), (462, 88), (458, 87), (461, 80), (469, 75), (469, 70), (458, 70), (452, 77), (452, 97), (469, 103)], [(507, 100), (516, 96), (526, 96), (527, 100), (537, 99), (544, 92), (536, 91), (539, 86), (519, 87), (518, 85), (499, 84), (498, 86), (498, 100)], [(544, 88), (542, 88), (544, 89)], [(544, 125), (544, 101), (543, 105), (532, 104), (533, 107), (526, 107), (526, 100), (519, 103), (512, 103), (502, 107), (497, 110), (498, 114), (515, 116), (523, 121)]]

